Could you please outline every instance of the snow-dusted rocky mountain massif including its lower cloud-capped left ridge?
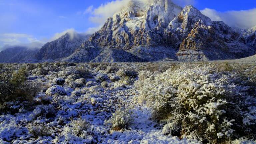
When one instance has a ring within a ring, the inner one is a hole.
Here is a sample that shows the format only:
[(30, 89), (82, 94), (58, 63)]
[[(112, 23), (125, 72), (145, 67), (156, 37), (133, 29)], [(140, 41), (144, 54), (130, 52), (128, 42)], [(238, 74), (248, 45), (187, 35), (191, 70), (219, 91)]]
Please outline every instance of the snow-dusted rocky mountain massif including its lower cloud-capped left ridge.
[(255, 33), (243, 34), (211, 21), (193, 6), (182, 8), (171, 0), (130, 0), (87, 38), (70, 39), (67, 33), (45, 44), (35, 58), (38, 62), (208, 61), (243, 58), (256, 49)]

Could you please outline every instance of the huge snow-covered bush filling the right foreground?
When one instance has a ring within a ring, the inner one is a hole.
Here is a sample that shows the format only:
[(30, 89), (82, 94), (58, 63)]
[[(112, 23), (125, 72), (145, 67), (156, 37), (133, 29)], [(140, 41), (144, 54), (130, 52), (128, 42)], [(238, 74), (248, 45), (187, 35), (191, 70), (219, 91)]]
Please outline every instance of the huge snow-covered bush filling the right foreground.
[[(236, 74), (219, 74), (211, 66), (182, 66), (155, 78), (146, 78), (139, 88), (153, 118), (165, 122), (165, 134), (221, 143), (241, 136), (255, 137), (253, 87), (234, 84)], [(255, 88), (255, 87), (254, 87)]]

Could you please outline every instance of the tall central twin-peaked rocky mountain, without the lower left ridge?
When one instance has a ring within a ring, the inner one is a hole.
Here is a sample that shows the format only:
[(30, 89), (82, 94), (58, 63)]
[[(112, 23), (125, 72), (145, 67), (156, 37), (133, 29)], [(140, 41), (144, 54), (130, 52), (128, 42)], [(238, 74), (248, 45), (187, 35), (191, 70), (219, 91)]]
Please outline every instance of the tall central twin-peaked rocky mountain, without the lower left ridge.
[(173, 52), (162, 58), (183, 61), (235, 59), (253, 54), (243, 36), (223, 22), (211, 21), (193, 6), (182, 9), (171, 0), (133, 0), (89, 40), (97, 47), (129, 51), (140, 58), (155, 55), (144, 56), (146, 61), (159, 59), (159, 51), (151, 53), (156, 47)]

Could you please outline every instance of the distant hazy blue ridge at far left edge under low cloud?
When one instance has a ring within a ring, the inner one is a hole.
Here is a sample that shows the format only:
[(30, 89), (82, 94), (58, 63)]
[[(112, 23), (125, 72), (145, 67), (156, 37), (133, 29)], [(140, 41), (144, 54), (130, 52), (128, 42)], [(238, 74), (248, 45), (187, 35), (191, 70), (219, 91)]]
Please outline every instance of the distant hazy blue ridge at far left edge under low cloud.
[(0, 52), (0, 63), (30, 63), (34, 62), (34, 55), (39, 48), (10, 47)]

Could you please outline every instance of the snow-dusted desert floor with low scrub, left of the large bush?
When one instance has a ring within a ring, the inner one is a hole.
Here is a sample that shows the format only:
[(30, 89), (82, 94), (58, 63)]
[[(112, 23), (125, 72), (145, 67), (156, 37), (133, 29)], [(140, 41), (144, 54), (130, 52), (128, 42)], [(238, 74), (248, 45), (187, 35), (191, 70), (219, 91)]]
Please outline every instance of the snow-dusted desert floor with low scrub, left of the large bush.
[[(185, 65), (191, 68), (202, 65), (204, 69), (220, 64), (164, 62), (1, 65), (1, 73), (25, 66), (26, 82), (31, 87), (38, 85), (40, 89), (30, 100), (14, 99), (1, 103), (0, 143), (202, 143), (191, 137), (172, 136), (163, 132), (166, 123), (153, 118), (154, 110), (142, 100), (142, 91), (138, 88), (150, 85), (149, 81), (140, 80), (142, 76), (158, 77), (168, 69)], [(255, 69), (256, 73), (254, 64), (229, 65), (236, 69), (234, 73), (241, 67), (245, 71)], [(218, 70), (232, 73), (230, 67), (222, 68), (220, 66)], [(254, 71), (250, 72), (252, 76), (256, 75)], [(253, 112), (250, 114), (255, 116)], [(127, 117), (131, 120), (125, 128), (114, 127), (125, 123)], [(250, 120), (255, 122), (255, 119)], [(242, 142), (254, 143), (246, 138), (232, 141)]]

